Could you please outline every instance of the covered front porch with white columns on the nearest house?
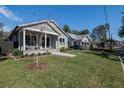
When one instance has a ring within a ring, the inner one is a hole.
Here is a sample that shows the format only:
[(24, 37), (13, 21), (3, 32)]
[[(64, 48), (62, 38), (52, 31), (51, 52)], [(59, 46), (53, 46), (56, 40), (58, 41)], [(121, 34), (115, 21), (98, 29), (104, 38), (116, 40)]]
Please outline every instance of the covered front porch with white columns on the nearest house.
[(57, 33), (38, 29), (23, 29), (18, 33), (18, 49), (26, 53), (44, 53), (48, 50), (59, 51), (59, 38)]

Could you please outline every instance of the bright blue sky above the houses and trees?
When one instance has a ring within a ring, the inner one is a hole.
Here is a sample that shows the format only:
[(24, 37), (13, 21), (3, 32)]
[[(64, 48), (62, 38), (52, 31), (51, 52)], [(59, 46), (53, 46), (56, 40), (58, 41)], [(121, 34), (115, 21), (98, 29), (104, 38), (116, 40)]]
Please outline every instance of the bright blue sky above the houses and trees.
[[(117, 32), (121, 26), (121, 12), (124, 6), (106, 6), (108, 23), (114, 39), (120, 40)], [(11, 5), (0, 6), (0, 21), (4, 23), (5, 30), (10, 31), (16, 25), (41, 21), (55, 20), (61, 27), (69, 25), (72, 30), (89, 29), (90, 32), (97, 25), (105, 24), (104, 6), (102, 5), (81, 5), (81, 6), (24, 6)]]

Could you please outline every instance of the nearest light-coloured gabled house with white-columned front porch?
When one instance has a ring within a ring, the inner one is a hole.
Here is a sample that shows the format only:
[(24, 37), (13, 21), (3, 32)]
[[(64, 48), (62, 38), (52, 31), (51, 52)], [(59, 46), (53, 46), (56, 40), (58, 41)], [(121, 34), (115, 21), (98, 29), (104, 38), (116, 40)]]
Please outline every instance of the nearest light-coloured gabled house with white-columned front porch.
[(23, 51), (24, 55), (68, 48), (68, 38), (69, 35), (54, 20), (18, 25), (9, 36), (14, 42), (14, 48)]

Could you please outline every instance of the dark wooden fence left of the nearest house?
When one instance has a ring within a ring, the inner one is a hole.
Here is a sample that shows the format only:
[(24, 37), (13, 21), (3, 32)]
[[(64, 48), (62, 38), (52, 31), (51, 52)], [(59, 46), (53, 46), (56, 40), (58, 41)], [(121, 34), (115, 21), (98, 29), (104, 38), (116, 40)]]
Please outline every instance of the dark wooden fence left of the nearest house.
[(0, 54), (8, 54), (13, 49), (12, 41), (0, 41)]

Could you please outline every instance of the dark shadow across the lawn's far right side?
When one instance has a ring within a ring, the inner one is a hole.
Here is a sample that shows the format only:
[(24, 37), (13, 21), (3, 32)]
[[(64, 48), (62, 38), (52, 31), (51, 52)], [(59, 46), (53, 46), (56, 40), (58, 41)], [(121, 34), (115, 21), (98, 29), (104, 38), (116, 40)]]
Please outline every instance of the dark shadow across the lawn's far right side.
[(97, 56), (100, 56), (100, 57), (103, 57), (103, 58), (107, 58), (107, 59), (110, 59), (110, 60), (114, 60), (114, 61), (118, 61), (118, 57), (110, 52), (105, 52), (105, 51), (90, 51), (90, 52), (85, 52), (87, 54), (93, 54), (93, 55), (97, 55)]

